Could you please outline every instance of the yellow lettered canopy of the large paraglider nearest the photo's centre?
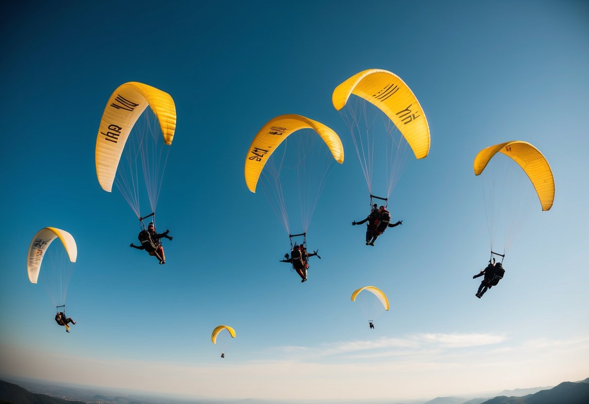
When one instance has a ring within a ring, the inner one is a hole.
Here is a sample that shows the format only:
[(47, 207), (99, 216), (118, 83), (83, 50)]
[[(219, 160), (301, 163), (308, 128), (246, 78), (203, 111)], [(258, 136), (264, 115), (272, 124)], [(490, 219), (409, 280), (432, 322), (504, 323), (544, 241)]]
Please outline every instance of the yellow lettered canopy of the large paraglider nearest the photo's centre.
[(266, 122), (254, 137), (247, 152), (245, 177), (247, 188), (256, 192), (260, 173), (274, 150), (286, 139), (300, 129), (313, 129), (325, 141), (337, 163), (343, 163), (343, 145), (339, 136), (320, 122), (310, 120), (301, 115), (280, 115)]

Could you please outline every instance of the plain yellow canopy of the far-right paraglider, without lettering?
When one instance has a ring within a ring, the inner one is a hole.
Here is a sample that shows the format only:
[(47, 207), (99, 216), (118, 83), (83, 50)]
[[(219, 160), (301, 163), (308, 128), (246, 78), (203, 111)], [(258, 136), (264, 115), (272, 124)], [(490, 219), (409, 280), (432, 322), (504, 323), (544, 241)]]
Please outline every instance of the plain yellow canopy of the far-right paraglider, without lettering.
[(474, 161), (475, 175), (479, 175), (487, 167), (489, 160), (501, 152), (512, 158), (528, 175), (534, 189), (540, 198), (542, 210), (550, 210), (554, 203), (554, 176), (548, 161), (530, 143), (524, 141), (510, 141), (489, 146), (479, 151)]

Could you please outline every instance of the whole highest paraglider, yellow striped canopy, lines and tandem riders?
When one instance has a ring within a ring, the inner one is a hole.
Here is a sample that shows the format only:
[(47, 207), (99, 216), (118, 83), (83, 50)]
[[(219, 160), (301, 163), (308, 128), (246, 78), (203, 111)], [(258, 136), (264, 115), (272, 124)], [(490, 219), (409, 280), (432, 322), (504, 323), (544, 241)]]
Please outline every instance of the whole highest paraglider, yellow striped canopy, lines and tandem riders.
[[(356, 97), (350, 97), (352, 94)], [(352, 135), (371, 208), (376, 205), (374, 200), (382, 200), (386, 209), (393, 188), (405, 171), (409, 148), (416, 159), (429, 153), (429, 125), (423, 108), (401, 78), (382, 69), (368, 69), (348, 78), (335, 88), (332, 102)], [(376, 196), (373, 180), (379, 184), (385, 181), (386, 196)], [(395, 226), (398, 224), (401, 221)], [(378, 231), (374, 224), (368, 226), (366, 245), (373, 245), (386, 226)]]

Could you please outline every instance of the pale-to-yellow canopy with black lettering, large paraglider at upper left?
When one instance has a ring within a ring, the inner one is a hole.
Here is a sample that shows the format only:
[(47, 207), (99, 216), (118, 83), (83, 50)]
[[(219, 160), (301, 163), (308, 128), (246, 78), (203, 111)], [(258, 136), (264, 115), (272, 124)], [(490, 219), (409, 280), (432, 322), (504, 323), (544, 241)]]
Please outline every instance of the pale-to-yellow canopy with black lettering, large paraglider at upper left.
[(127, 137), (147, 105), (160, 122), (164, 142), (172, 144), (176, 105), (170, 94), (135, 81), (121, 85), (108, 99), (96, 139), (96, 174), (103, 190), (111, 192)]

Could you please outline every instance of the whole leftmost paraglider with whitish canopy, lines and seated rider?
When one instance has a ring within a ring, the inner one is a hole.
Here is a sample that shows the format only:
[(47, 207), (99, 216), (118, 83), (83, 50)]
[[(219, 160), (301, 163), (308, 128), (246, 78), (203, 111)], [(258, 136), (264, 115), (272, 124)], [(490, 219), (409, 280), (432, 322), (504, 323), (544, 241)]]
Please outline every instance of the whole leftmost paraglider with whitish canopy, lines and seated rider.
[[(43, 264), (45, 253), (47, 253), (49, 246), (51, 246), (51, 243), (55, 239), (61, 241), (67, 257), (64, 257), (63, 254), (59, 256), (60, 251), (56, 251), (57, 247), (52, 247), (51, 251), (54, 254), (52, 254), (47, 263)], [(57, 229), (56, 227), (44, 227), (44, 229), (37, 231), (31, 240), (31, 244), (29, 244), (27, 254), (29, 282), (38, 282), (42, 268), (44, 273), (42, 275), (42, 284), (45, 286), (55, 308), (58, 310), (55, 315), (55, 321), (59, 325), (65, 326), (66, 332), (70, 332), (68, 323), (75, 324), (73, 320), (65, 316), (65, 299), (73, 271), (72, 263), (75, 263), (77, 257), (78, 247), (74, 237), (67, 231)], [(60, 307), (63, 307), (63, 311), (59, 311)]]

